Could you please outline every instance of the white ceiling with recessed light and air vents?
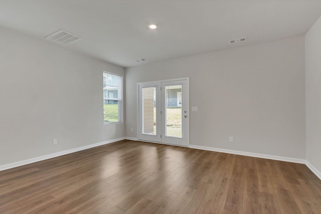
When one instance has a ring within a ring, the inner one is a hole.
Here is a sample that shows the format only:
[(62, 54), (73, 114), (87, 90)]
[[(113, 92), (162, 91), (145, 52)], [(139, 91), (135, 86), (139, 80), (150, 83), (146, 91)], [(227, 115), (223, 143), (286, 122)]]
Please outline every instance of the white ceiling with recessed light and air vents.
[(47, 42), (122, 67), (304, 35), (320, 16), (319, 0), (0, 0), (0, 26), (44, 41), (64, 29), (83, 39)]

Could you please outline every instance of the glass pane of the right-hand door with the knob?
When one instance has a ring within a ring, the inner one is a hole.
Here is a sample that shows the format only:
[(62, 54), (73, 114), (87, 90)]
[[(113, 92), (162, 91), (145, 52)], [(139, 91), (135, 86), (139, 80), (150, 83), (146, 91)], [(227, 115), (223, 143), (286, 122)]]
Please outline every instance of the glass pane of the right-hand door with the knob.
[(166, 86), (166, 136), (182, 138), (182, 85)]

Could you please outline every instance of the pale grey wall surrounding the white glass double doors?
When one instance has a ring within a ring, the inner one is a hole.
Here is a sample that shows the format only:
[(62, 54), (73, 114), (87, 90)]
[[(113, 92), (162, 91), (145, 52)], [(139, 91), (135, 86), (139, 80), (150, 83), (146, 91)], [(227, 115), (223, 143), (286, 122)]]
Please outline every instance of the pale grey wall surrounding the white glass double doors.
[(180, 77), (190, 77), (190, 144), (305, 159), (304, 37), (127, 68), (127, 137), (136, 83)]

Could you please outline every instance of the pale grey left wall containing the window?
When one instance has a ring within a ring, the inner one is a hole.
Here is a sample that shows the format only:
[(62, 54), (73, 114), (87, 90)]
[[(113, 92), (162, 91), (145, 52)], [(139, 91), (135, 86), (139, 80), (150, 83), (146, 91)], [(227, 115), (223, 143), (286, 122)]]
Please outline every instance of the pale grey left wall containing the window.
[(124, 123), (103, 125), (103, 71), (124, 75), (0, 28), (0, 166), (123, 137)]

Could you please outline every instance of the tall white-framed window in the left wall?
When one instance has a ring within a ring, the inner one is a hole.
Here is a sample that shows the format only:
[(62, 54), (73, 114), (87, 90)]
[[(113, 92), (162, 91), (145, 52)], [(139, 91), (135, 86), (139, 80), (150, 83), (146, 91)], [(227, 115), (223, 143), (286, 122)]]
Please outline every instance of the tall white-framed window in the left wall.
[(103, 73), (104, 124), (122, 121), (122, 76)]

